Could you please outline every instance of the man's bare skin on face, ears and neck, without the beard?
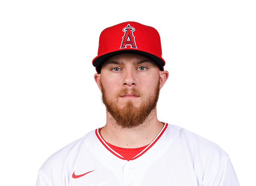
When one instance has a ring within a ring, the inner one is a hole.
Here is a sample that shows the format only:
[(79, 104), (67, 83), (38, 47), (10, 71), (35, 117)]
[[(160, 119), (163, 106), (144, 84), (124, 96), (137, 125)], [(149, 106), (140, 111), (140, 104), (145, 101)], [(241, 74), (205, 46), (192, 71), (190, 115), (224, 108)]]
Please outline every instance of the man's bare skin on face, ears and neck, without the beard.
[[(113, 64), (111, 62), (115, 61)], [(141, 61), (143, 63), (136, 64)], [(124, 53), (114, 55), (102, 65), (101, 73), (95, 74), (94, 78), (102, 91), (105, 90), (105, 96), (113, 101), (122, 109), (128, 102), (139, 108), (143, 100), (149, 100), (154, 95), (156, 87), (161, 89), (168, 77), (167, 71), (160, 71), (154, 61), (149, 58)], [(102, 86), (101, 86), (102, 85)], [(133, 93), (135, 89), (138, 96), (123, 96), (124, 90)], [(138, 148), (151, 143), (163, 128), (163, 123), (158, 121), (156, 107), (148, 115), (147, 119), (138, 126), (124, 128), (117, 125), (111, 114), (107, 111), (107, 122), (101, 129), (101, 135), (106, 142), (122, 148)]]

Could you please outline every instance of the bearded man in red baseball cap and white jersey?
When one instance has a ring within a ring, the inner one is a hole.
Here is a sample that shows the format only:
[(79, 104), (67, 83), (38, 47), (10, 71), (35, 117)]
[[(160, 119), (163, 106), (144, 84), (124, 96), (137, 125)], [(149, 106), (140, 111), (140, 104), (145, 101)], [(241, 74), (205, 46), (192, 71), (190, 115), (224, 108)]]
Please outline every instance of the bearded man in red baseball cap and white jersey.
[(106, 29), (93, 65), (107, 122), (49, 157), (38, 186), (237, 186), (221, 148), (157, 120), (168, 72), (155, 29), (133, 22)]

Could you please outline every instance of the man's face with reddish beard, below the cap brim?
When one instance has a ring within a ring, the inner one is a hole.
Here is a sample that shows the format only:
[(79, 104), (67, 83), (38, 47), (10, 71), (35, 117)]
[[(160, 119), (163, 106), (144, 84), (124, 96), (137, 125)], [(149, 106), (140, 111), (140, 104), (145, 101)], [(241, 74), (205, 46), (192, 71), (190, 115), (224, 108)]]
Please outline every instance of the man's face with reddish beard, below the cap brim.
[(160, 80), (157, 64), (142, 55), (125, 53), (105, 61), (98, 81), (115, 123), (134, 128), (145, 122), (156, 109)]

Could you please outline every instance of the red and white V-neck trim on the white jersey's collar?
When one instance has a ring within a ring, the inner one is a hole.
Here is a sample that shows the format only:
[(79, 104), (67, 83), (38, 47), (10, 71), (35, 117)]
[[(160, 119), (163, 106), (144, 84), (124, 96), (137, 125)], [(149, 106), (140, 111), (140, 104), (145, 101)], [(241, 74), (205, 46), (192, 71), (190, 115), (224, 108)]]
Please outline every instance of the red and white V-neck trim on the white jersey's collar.
[[(160, 133), (157, 135), (157, 137), (155, 137), (155, 139), (146, 147), (144, 148), (143, 151), (141, 151), (139, 154), (137, 154), (136, 156), (134, 156), (133, 158), (131, 158), (131, 160), (135, 160), (136, 158), (142, 156), (146, 151), (148, 151), (149, 148), (151, 148), (156, 142), (157, 140), (163, 135), (164, 131), (167, 128), (168, 123), (165, 123), (163, 125), (162, 130), (160, 131)], [(116, 157), (119, 157), (122, 160), (126, 160), (124, 157), (122, 157), (122, 155), (118, 154), (116, 151), (114, 151), (108, 144), (107, 142), (105, 142), (105, 140), (102, 138), (101, 134), (99, 133), (100, 129), (102, 128), (97, 128), (95, 130), (95, 134), (98, 137), (99, 141), (102, 143), (102, 145), (105, 146), (105, 148), (108, 149), (108, 151), (110, 151), (112, 154), (114, 154)]]

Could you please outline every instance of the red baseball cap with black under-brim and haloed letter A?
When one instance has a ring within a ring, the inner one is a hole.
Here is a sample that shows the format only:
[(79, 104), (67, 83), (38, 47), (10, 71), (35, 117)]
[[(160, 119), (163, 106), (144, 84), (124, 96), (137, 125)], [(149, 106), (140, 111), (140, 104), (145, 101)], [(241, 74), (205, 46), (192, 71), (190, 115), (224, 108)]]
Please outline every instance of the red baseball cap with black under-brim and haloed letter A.
[(134, 22), (126, 22), (105, 29), (99, 38), (98, 56), (93, 66), (100, 73), (101, 65), (110, 57), (122, 53), (143, 55), (155, 61), (163, 71), (160, 37), (156, 29)]

